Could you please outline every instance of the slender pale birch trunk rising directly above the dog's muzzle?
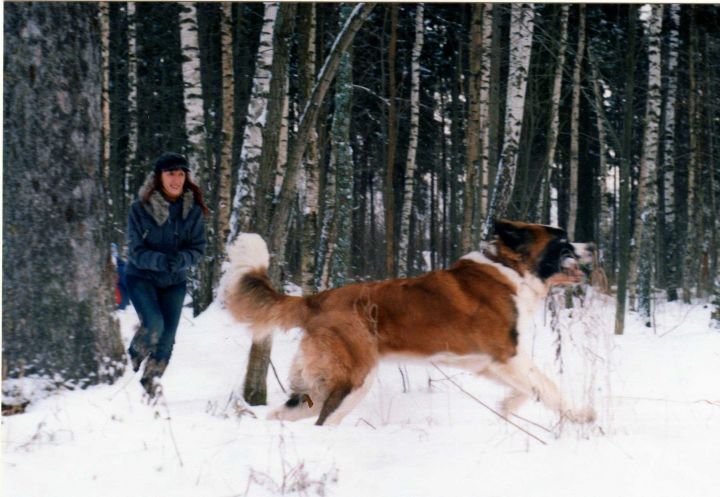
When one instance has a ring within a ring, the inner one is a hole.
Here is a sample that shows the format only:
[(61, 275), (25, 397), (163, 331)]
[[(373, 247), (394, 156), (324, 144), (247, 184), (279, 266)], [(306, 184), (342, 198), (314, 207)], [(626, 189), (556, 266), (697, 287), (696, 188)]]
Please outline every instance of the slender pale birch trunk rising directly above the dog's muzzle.
[(580, 24), (578, 26), (578, 48), (573, 68), (572, 111), (570, 115), (570, 205), (567, 232), (570, 240), (575, 239), (578, 202), (578, 167), (580, 162), (580, 91), (582, 85), (582, 64), (585, 55), (585, 5), (579, 4)]

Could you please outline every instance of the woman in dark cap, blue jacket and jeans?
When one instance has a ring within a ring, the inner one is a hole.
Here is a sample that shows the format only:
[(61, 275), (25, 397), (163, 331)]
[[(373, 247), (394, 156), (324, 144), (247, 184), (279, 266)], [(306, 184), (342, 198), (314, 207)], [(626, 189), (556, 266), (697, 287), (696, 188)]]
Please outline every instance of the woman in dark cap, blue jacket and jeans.
[(125, 281), (141, 324), (128, 354), (133, 371), (147, 359), (140, 384), (151, 398), (175, 344), (187, 269), (205, 252), (208, 208), (189, 173), (185, 157), (162, 154), (130, 208)]

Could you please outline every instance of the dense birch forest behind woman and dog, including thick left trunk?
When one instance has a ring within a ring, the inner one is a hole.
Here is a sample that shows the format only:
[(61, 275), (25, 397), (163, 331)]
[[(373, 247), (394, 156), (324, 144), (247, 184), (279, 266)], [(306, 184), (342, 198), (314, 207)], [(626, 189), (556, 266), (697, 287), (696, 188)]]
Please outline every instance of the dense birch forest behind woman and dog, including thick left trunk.
[(211, 209), (195, 314), (240, 232), (316, 292), (446, 267), (508, 218), (598, 245), (618, 334), (657, 299), (720, 323), (718, 26), (710, 4), (5, 2), (3, 379), (122, 374), (110, 246), (165, 151)]

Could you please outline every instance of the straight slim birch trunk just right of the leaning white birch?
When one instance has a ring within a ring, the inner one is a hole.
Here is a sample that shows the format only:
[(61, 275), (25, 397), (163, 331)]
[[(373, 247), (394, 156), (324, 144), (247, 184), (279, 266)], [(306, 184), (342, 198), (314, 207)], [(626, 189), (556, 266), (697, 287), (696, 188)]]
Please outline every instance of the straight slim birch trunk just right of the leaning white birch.
[(679, 202), (675, 196), (675, 107), (677, 102), (678, 91), (678, 51), (680, 46), (680, 5), (671, 4), (669, 6), (668, 20), (668, 54), (667, 63), (665, 64), (665, 75), (667, 83), (667, 93), (665, 96), (665, 127), (663, 129), (663, 168), (662, 181), (663, 192), (665, 195), (665, 212), (662, 213), (663, 226), (665, 229), (661, 232), (665, 235), (663, 243), (664, 254), (661, 261), (664, 263), (665, 269), (665, 288), (667, 290), (668, 300), (677, 300), (677, 289), (680, 286), (679, 276), (680, 268), (678, 267), (678, 234), (677, 234), (677, 218), (675, 213), (678, 211)]

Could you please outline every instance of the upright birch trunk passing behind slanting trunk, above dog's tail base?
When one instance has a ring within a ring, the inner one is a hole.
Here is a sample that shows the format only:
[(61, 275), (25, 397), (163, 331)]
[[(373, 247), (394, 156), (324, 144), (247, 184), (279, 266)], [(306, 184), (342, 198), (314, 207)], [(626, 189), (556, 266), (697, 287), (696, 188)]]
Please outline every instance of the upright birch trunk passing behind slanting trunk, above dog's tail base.
[[(300, 105), (304, 106), (310, 98), (315, 72), (317, 71), (317, 53), (315, 36), (317, 30), (316, 6), (314, 3), (302, 4), (298, 7), (301, 16), (299, 52), (299, 86)], [(318, 210), (320, 205), (320, 169), (318, 161), (317, 131), (313, 127), (308, 134), (308, 147), (305, 154), (305, 177), (303, 202), (303, 246), (302, 246), (302, 289), (308, 295), (317, 289), (315, 251), (318, 246)]]

